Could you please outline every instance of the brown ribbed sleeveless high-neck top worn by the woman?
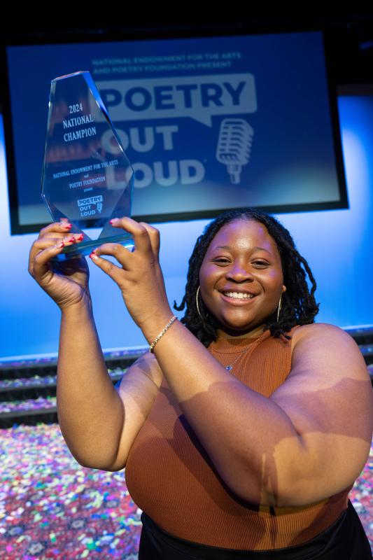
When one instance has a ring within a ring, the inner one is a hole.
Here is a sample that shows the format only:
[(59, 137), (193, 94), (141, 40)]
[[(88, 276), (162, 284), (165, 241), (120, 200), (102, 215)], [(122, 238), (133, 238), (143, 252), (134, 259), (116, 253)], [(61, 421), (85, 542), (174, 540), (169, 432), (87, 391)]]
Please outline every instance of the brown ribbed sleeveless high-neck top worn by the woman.
[[(218, 339), (209, 351), (226, 366), (248, 344), (227, 375), (269, 397), (290, 372), (291, 341), (265, 331), (251, 342)], [(136, 505), (167, 533), (203, 545), (247, 550), (311, 540), (346, 510), (352, 488), (302, 507), (244, 502), (217, 475), (165, 379), (129, 452), (125, 477)]]

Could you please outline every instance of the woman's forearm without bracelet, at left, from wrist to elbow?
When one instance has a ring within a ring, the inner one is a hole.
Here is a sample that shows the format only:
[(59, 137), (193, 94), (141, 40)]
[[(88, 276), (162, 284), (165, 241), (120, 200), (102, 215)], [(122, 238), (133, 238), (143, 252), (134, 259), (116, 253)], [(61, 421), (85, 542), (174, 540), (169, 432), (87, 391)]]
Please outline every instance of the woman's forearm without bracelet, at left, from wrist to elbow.
[(76, 461), (84, 467), (110, 470), (117, 456), (124, 409), (108, 375), (90, 302), (62, 311), (57, 414)]

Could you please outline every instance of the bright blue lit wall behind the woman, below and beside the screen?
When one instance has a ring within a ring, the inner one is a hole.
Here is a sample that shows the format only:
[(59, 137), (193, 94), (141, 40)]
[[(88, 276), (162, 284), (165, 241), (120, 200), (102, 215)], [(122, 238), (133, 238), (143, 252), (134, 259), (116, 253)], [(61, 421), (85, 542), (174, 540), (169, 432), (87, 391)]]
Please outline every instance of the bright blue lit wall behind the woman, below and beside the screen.
[[(321, 302), (318, 321), (341, 327), (372, 325), (373, 97), (339, 97), (339, 113), (350, 209), (278, 217), (314, 272), (316, 300)], [(37, 236), (10, 237), (2, 123), (0, 135), (0, 358), (57, 353), (59, 309), (27, 272), (29, 248)], [(286, 188), (287, 181), (292, 178), (279, 177), (279, 187)], [(188, 259), (206, 223), (153, 224), (161, 234), (161, 264), (170, 302), (183, 297)], [(102, 348), (146, 344), (115, 283), (91, 262), (90, 271)]]

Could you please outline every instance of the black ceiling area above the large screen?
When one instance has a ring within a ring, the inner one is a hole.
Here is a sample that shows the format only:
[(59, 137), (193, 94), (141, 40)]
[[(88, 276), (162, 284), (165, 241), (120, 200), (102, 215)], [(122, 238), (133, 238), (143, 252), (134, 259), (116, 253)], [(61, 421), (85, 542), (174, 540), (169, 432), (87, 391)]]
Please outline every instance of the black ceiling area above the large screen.
[[(132, 2), (132, 5), (134, 3)], [(109, 39), (120, 41), (145, 37), (162, 36), (201, 36), (214, 34), (258, 34), (286, 31), (325, 31), (325, 45), (328, 52), (329, 70), (332, 71), (337, 84), (373, 84), (373, 9), (365, 13), (342, 15), (211, 15), (204, 18), (193, 13), (183, 15), (183, 19), (172, 18), (171, 14), (152, 15), (141, 3), (141, 8), (131, 8), (125, 25), (126, 8), (122, 8), (118, 17), (116, 10), (107, 10), (110, 16), (78, 18), (50, 18), (48, 25), (25, 22), (17, 25), (14, 20), (7, 20), (6, 29), (1, 33), (1, 42), (5, 44), (27, 43), (62, 43), (64, 41), (96, 41)], [(186, 11), (183, 6), (183, 12)], [(58, 10), (57, 10), (58, 11)], [(66, 10), (67, 11), (67, 10)], [(104, 9), (100, 10), (104, 13)], [(141, 15), (141, 11), (143, 14)], [(270, 11), (270, 10), (268, 10)], [(237, 13), (237, 10), (235, 10)], [(25, 18), (27, 21), (27, 18)], [(117, 20), (120, 23), (115, 23)]]

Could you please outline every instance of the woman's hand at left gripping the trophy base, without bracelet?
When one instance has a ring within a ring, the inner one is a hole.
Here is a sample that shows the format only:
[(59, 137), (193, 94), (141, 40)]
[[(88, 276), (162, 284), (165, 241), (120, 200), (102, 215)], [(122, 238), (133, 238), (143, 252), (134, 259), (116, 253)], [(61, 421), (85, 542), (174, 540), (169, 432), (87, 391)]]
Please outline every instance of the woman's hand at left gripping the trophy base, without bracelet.
[(61, 310), (83, 300), (90, 301), (89, 269), (85, 258), (81, 256), (62, 262), (50, 261), (62, 252), (64, 246), (82, 240), (79, 235), (69, 232), (68, 225), (64, 221), (47, 225), (40, 231), (29, 254), (29, 273)]

